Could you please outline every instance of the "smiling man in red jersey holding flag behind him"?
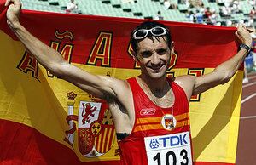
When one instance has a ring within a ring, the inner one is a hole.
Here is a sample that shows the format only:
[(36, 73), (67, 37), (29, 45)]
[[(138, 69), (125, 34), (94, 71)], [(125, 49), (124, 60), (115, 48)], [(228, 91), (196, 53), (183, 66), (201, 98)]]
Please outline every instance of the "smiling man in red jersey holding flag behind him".
[[(7, 0), (5, 5), (9, 5), (9, 27), (41, 65), (55, 76), (108, 101), (119, 139), (121, 162), (127, 165), (161, 162), (192, 164), (189, 99), (192, 94), (200, 94), (228, 82), (252, 43), (246, 27), (239, 25), (236, 37), (241, 49), (230, 60), (202, 77), (186, 75), (167, 79), (166, 71), (174, 52), (170, 31), (157, 22), (145, 22), (131, 32), (133, 55), (141, 66), (141, 75), (119, 80), (92, 75), (68, 64), (61, 54), (20, 25), (19, 0)], [(163, 147), (167, 139), (177, 144), (177, 138), (182, 142), (178, 147)]]

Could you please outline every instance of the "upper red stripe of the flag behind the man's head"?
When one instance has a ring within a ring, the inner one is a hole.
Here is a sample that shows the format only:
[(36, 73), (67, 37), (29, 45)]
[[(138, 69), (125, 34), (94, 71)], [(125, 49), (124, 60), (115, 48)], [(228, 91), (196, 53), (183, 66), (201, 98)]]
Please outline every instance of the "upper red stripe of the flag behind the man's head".
[[(5, 2), (5, 0), (1, 1)], [(0, 6), (0, 12), (0, 29), (17, 40), (15, 34), (6, 24), (6, 8)], [(86, 65), (100, 32), (111, 33), (109, 55), (111, 61), (107, 67), (127, 69), (134, 68), (135, 65), (128, 53), (130, 33), (143, 21), (31, 10), (22, 10), (20, 14), (21, 24), (47, 45), (50, 41), (60, 41), (55, 38), (55, 31), (71, 31), (73, 39), (64, 38), (61, 44), (72, 43), (75, 45), (72, 52), (72, 63)], [(168, 26), (172, 32), (172, 40), (178, 56), (174, 68), (212, 68), (236, 54), (237, 49), (234, 42), (236, 28), (234, 27), (205, 26), (171, 21), (160, 22)], [(102, 61), (97, 60), (96, 65), (102, 65)]]

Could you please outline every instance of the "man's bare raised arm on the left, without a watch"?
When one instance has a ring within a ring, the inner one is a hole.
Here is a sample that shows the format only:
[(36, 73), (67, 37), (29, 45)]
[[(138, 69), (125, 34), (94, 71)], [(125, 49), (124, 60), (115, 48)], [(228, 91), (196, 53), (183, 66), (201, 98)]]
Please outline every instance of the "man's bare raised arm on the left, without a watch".
[(44, 65), (51, 73), (61, 77), (70, 83), (75, 84), (84, 91), (94, 94), (97, 97), (115, 97), (115, 88), (124, 83), (112, 77), (103, 77), (92, 75), (67, 63), (55, 49), (33, 37), (26, 28), (20, 24), (19, 15), (21, 9), (20, 0), (7, 0), (5, 6), (9, 5), (7, 10), (7, 23), (15, 35), (20, 39), (26, 49), (32, 54), (41, 65)]

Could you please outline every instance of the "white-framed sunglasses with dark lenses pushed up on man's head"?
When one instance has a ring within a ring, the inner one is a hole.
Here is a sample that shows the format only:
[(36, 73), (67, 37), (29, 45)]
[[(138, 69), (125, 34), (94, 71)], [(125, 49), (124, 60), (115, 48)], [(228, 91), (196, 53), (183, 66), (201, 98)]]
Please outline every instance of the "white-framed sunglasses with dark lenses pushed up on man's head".
[(164, 27), (156, 26), (151, 29), (140, 29), (133, 33), (134, 39), (143, 39), (148, 36), (148, 31), (151, 32), (153, 36), (164, 36), (167, 31)]

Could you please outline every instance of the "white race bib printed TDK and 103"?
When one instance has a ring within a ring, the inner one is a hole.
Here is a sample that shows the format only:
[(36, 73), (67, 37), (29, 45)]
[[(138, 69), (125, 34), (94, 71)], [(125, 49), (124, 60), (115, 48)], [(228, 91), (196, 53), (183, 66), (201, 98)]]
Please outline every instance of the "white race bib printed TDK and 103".
[(189, 131), (144, 138), (148, 165), (192, 165)]

